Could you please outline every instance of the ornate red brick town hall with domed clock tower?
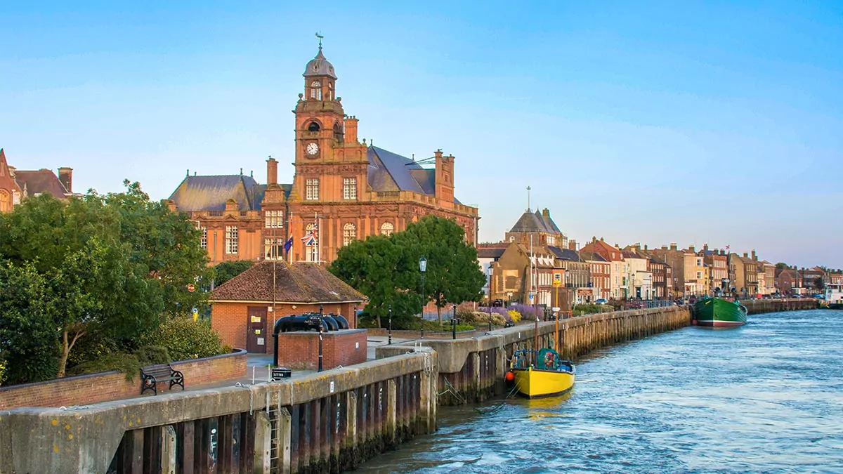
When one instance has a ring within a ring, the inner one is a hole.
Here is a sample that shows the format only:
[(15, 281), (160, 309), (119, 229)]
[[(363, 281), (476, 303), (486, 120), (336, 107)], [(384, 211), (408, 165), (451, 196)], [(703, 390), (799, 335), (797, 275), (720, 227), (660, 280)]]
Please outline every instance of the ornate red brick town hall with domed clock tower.
[[(169, 207), (189, 213), (202, 229), (212, 263), (284, 258), (333, 261), (355, 239), (392, 234), (427, 214), (454, 219), (473, 244), (476, 207), (454, 197), (454, 156), (438, 150), (418, 162), (363, 139), (357, 118), (346, 116), (336, 95), (334, 67), (322, 54), (308, 62), (304, 93), (295, 114), (293, 184), (279, 184), (277, 161), (266, 160), (266, 185), (252, 176), (188, 175), (169, 197)], [(435, 168), (423, 168), (432, 163)], [(317, 243), (304, 245), (317, 226)]]

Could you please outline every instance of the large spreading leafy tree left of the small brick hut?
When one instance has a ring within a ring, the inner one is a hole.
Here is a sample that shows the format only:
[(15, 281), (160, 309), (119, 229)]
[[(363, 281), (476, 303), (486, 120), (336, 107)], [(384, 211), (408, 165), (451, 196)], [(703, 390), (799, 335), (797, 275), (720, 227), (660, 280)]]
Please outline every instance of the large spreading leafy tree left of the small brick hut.
[[(34, 300), (43, 313), (35, 324), (55, 333), (60, 377), (82, 337), (95, 332), (131, 351), (165, 315), (189, 314), (207, 299), (187, 290), (207, 272), (199, 230), (184, 214), (151, 202), (137, 183), (125, 184), (126, 192), (89, 191), (67, 202), (28, 198), (0, 214), (0, 256), (40, 277), (27, 273), (30, 291), (44, 294)], [(23, 307), (0, 293), (3, 304)], [(0, 325), (19, 324), (14, 315), (0, 313)]]

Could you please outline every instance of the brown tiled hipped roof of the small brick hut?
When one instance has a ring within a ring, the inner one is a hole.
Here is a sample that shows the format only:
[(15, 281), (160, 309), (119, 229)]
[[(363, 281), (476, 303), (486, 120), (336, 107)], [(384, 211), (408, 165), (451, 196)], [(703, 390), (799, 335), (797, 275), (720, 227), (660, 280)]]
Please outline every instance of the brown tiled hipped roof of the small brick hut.
[[(211, 301), (271, 302), (272, 261), (259, 261), (249, 270), (213, 290)], [(277, 303), (362, 302), (366, 296), (316, 263), (275, 262)]]

